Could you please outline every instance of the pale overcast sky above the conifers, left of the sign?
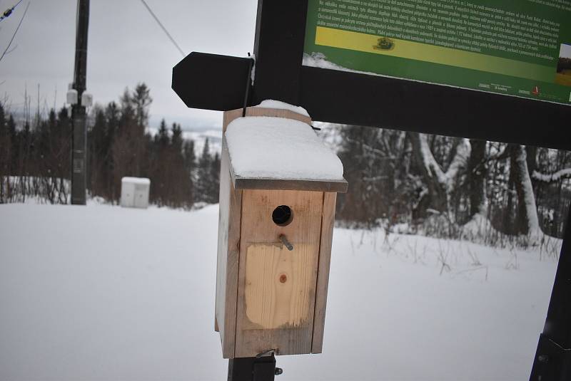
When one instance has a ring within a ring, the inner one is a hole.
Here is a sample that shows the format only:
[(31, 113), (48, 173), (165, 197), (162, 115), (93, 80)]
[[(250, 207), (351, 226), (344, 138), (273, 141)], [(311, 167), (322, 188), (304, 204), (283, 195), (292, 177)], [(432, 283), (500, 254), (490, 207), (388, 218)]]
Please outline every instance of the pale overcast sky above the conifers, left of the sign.
[[(28, 0), (0, 22), (4, 51)], [(253, 51), (256, 0), (146, 0), (185, 53), (247, 56)], [(17, 0), (0, 0), (0, 10)], [(24, 103), (27, 87), (41, 105), (64, 105), (74, 74), (76, 0), (31, 0), (12, 48), (0, 61), (0, 94), (16, 110)], [(0, 52), (1, 53), (1, 52)], [(126, 86), (145, 82), (151, 88), (151, 124), (161, 118), (183, 127), (220, 125), (221, 113), (193, 110), (171, 90), (172, 68), (183, 57), (141, 0), (91, 1), (87, 91), (96, 103), (117, 100)], [(55, 96), (57, 90), (57, 96)]]

